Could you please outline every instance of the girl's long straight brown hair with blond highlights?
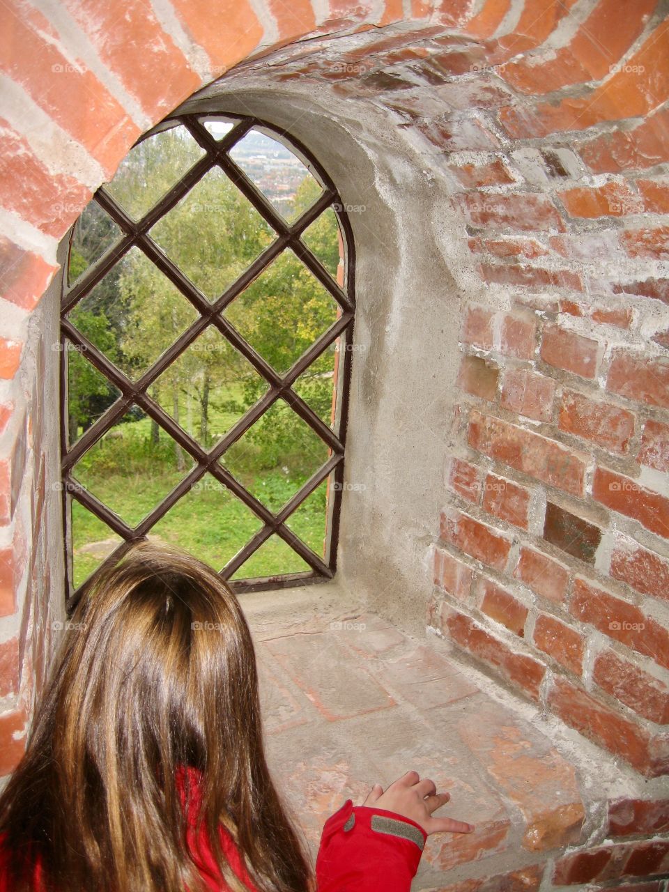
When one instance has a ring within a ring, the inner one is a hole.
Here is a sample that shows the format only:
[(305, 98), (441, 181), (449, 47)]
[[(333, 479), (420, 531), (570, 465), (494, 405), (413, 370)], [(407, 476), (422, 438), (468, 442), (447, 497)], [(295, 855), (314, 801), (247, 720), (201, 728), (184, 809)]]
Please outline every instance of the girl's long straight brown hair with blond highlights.
[(246, 887), (219, 822), (257, 888), (305, 892), (310, 863), (268, 772), (235, 595), (190, 555), (142, 542), (79, 602), (0, 797), (11, 888), (32, 888), (37, 858), (49, 892), (203, 888), (178, 795), (184, 766), (202, 772), (199, 819), (230, 888)]

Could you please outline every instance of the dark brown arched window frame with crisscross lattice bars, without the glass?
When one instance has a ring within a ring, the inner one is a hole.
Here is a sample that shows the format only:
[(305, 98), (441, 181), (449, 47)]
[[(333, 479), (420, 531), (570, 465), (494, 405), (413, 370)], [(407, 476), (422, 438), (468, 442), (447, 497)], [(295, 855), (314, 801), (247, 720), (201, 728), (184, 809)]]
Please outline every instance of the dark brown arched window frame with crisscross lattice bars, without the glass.
[[(225, 119), (236, 123), (234, 123), (234, 126), (225, 136), (217, 140), (211, 136), (202, 123), (207, 118), (211, 120)], [(70, 230), (67, 264), (63, 269), (62, 275), (60, 311), (62, 518), (63, 530), (65, 532), (66, 606), (69, 612), (76, 606), (88, 583), (95, 579), (95, 576), (100, 573), (103, 566), (121, 558), (133, 542), (144, 540), (153, 528), (153, 525), (157, 524), (161, 517), (167, 514), (169, 509), (178, 502), (181, 496), (185, 495), (195, 483), (207, 474), (212, 475), (219, 483), (227, 487), (263, 522), (263, 526), (258, 533), (219, 571), (219, 574), (227, 580), (235, 593), (269, 591), (312, 582), (327, 582), (334, 578), (336, 572), (337, 544), (339, 541), (343, 495), (344, 450), (351, 389), (351, 346), (355, 313), (355, 252), (350, 220), (343, 202), (339, 198), (335, 184), (306, 146), (287, 134), (285, 130), (277, 128), (255, 116), (236, 113), (227, 114), (224, 111), (169, 116), (169, 118), (161, 121), (155, 128), (152, 128), (140, 137), (135, 145), (161, 132), (168, 126), (179, 125), (185, 126), (191, 136), (202, 147), (205, 152), (202, 158), (196, 161), (186, 171), (186, 174), (179, 178), (178, 182), (138, 221), (131, 219), (128, 213), (111, 198), (111, 195), (104, 191), (104, 186), (100, 186), (95, 192), (92, 201), (95, 200), (102, 207), (103, 211), (120, 227), (121, 235), (71, 286), (68, 284), (68, 270), (76, 223)], [(304, 211), (299, 219), (293, 220), (292, 223), (287, 222), (283, 218), (269, 199), (255, 186), (252, 179), (229, 156), (229, 151), (233, 146), (252, 129), (265, 133), (285, 145), (302, 161), (305, 167), (310, 170), (312, 176), (322, 186), (323, 192), (318, 200), (310, 205), (310, 208)], [(229, 285), (216, 300), (209, 301), (186, 278), (186, 275), (181, 272), (177, 264), (169, 260), (167, 254), (161, 250), (158, 244), (153, 242), (148, 232), (158, 219), (161, 219), (164, 214), (170, 211), (210, 169), (216, 166), (223, 169), (227, 177), (232, 180), (244, 197), (251, 202), (253, 208), (260, 213), (262, 219), (273, 228), (276, 237), (260, 253), (259, 257), (252, 261), (252, 264), (244, 271), (241, 277), (237, 278), (232, 285)], [(335, 211), (341, 234), (344, 267), (342, 285), (335, 282), (335, 279), (320, 263), (318, 257), (310, 252), (306, 244), (301, 242), (300, 237), (310, 227), (310, 224), (323, 211), (326, 211), (328, 207)], [(95, 285), (111, 270), (114, 264), (129, 252), (133, 246), (137, 246), (153, 261), (153, 264), (161, 270), (161, 273), (170, 282), (177, 286), (178, 290), (193, 304), (194, 309), (198, 312), (198, 317), (194, 323), (179, 335), (167, 351), (164, 351), (159, 359), (150, 368), (146, 369), (136, 381), (131, 381), (120, 371), (120, 368), (114, 366), (110, 359), (107, 359), (93, 343), (88, 341), (73, 326), (66, 315), (78, 301), (83, 300), (87, 296)], [(320, 335), (315, 343), (311, 344), (310, 348), (293, 363), (293, 366), (285, 374), (281, 375), (269, 366), (268, 362), (254, 351), (251, 345), (244, 341), (242, 335), (236, 332), (234, 326), (220, 314), (222, 310), (225, 310), (235, 300), (238, 294), (244, 291), (244, 288), (250, 285), (256, 277), (260, 276), (261, 272), (268, 268), (268, 265), (285, 250), (292, 250), (297, 258), (310, 270), (318, 282), (332, 295), (341, 309), (341, 313), (337, 316), (335, 322), (326, 329), (326, 332)], [(157, 402), (153, 401), (147, 391), (153, 384), (153, 381), (172, 362), (178, 359), (188, 346), (194, 343), (195, 338), (210, 324), (215, 326), (219, 333), (226, 337), (252, 364), (260, 376), (267, 381), (268, 390), (252, 407), (247, 409), (244, 416), (235, 422), (227, 431), (227, 434), (214, 447), (210, 450), (205, 450)], [(291, 385), (301, 376), (306, 368), (309, 368), (312, 361), (326, 351), (330, 344), (335, 343), (337, 338), (340, 340), (338, 353), (335, 355), (335, 419), (333, 428), (330, 428), (307, 403), (301, 400), (298, 394), (292, 390)], [(70, 349), (67, 344), (68, 341), (74, 345), (75, 350), (84, 352), (91, 364), (120, 392), (120, 397), (103, 412), (102, 416), (95, 420), (93, 425), (87, 428), (71, 447), (68, 442), (68, 350)], [(259, 500), (255, 499), (227, 468), (219, 464), (219, 458), (278, 399), (284, 399), (291, 409), (310, 425), (311, 429), (326, 443), (329, 458), (318, 471), (310, 476), (300, 490), (293, 494), (293, 497), (285, 503), (277, 514), (274, 514)], [(169, 434), (174, 441), (178, 442), (179, 446), (194, 460), (194, 467), (134, 528), (128, 526), (120, 516), (111, 511), (111, 508), (108, 508), (103, 502), (97, 500), (91, 492), (87, 491), (72, 476), (72, 470), (78, 459), (93, 447), (103, 434), (106, 434), (133, 405), (139, 406), (145, 411), (147, 416), (152, 417), (163, 431)], [(332, 475), (331, 483), (334, 483), (334, 485), (328, 484), (325, 553), (324, 558), (318, 558), (318, 555), (311, 551), (306, 543), (301, 541), (289, 527), (285, 526), (285, 521), (308, 498), (310, 493), (315, 491), (330, 475)], [(119, 535), (122, 540), (120, 545), (111, 552), (108, 558), (103, 560), (101, 565), (78, 589), (74, 588), (72, 582), (71, 499), (78, 500), (84, 508), (87, 508), (87, 510), (102, 520), (104, 524), (107, 524), (111, 531)], [(231, 580), (230, 577), (244, 564), (244, 561), (251, 557), (252, 553), (260, 548), (262, 543), (268, 540), (269, 536), (275, 533), (300, 555), (310, 566), (310, 571)], [(215, 569), (218, 572), (218, 568)]]

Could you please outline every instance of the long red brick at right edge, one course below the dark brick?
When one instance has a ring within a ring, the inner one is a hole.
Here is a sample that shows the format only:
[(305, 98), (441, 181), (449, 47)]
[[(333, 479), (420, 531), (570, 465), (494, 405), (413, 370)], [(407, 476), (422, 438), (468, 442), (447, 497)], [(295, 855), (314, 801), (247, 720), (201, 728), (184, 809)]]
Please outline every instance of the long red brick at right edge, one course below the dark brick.
[(639, 607), (576, 578), (569, 611), (576, 619), (669, 669), (669, 632)]

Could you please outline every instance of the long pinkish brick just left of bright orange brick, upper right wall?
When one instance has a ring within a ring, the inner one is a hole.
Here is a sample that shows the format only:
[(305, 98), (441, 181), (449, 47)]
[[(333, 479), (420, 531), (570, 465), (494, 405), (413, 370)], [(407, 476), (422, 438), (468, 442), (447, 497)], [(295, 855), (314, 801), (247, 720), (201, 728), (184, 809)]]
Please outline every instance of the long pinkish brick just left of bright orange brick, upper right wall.
[(565, 231), (557, 208), (545, 195), (465, 194), (458, 196), (458, 202), (471, 226)]

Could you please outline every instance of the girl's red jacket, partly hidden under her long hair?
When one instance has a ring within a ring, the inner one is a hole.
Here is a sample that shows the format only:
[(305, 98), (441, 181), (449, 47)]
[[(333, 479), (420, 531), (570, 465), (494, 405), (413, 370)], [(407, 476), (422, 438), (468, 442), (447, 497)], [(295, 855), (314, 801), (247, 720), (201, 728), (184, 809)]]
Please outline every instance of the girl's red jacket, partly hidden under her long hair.
[[(195, 816), (196, 807), (189, 808), (187, 840), (194, 862), (211, 892), (229, 892), (206, 834), (195, 836)], [(219, 833), (230, 866), (249, 892), (257, 892), (232, 837), (222, 825)], [(426, 838), (425, 830), (410, 818), (383, 808), (353, 805), (347, 799), (323, 828), (316, 860), (318, 892), (409, 892)], [(0, 892), (13, 892), (7, 881), (7, 855), (0, 835)], [(36, 892), (40, 875), (37, 863)]]

